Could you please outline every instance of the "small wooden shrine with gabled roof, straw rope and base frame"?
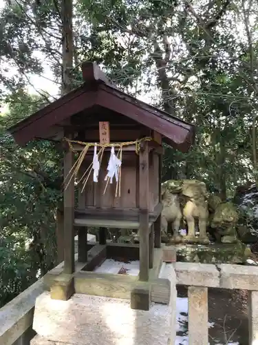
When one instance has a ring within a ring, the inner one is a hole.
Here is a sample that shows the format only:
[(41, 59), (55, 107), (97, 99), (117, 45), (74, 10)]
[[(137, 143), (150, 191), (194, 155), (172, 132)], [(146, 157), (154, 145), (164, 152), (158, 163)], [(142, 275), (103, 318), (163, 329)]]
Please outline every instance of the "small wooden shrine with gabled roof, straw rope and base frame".
[[(82, 86), (9, 130), (21, 146), (33, 139), (63, 143), (64, 262), (45, 282), (54, 299), (74, 292), (131, 298), (132, 308), (148, 310), (151, 301), (169, 302), (169, 282), (158, 278), (162, 141), (186, 152), (194, 128), (121, 92), (94, 63), (82, 70)], [(99, 242), (87, 244), (92, 226)], [(107, 243), (107, 228), (139, 229), (140, 244)], [(94, 273), (107, 257), (140, 259), (138, 277)]]

